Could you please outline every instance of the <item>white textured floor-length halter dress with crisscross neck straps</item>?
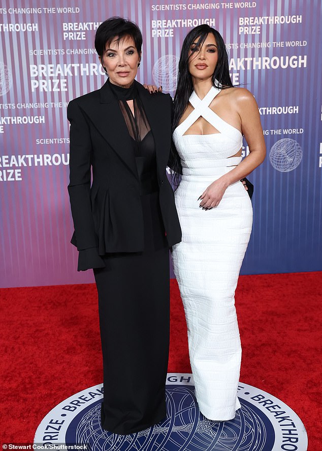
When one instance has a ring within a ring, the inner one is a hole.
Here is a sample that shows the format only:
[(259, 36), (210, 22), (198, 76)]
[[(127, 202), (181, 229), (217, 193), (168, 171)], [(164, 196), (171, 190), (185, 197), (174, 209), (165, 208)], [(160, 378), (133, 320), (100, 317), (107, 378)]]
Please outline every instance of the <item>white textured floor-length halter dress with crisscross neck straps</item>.
[[(182, 241), (172, 259), (188, 329), (189, 357), (200, 411), (208, 419), (229, 420), (240, 408), (237, 398), (241, 345), (235, 309), (235, 289), (252, 226), (252, 207), (238, 181), (219, 205), (199, 207), (199, 196), (214, 180), (227, 174), (241, 157), (242, 134), (220, 119), (209, 105), (220, 90), (212, 87), (174, 130), (182, 163), (182, 180), (175, 191)], [(184, 133), (200, 117), (218, 133)]]

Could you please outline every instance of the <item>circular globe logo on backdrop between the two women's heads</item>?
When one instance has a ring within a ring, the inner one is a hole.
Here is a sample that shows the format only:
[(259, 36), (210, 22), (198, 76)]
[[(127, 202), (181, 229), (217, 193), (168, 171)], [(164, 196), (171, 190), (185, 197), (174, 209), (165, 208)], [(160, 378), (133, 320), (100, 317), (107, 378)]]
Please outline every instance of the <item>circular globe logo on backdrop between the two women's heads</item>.
[(165, 55), (157, 60), (152, 69), (152, 77), (157, 86), (164, 91), (174, 91), (177, 86), (179, 58)]

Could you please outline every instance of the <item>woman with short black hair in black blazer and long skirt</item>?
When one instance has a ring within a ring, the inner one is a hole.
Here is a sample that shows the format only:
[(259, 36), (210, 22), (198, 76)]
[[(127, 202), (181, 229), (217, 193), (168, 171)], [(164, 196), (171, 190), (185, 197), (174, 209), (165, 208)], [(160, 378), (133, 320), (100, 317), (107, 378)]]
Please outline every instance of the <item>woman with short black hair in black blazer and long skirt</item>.
[[(68, 105), (78, 270), (93, 268), (103, 351), (102, 428), (141, 431), (166, 416), (169, 247), (181, 240), (166, 175), (170, 95), (135, 80), (142, 35), (114, 17), (95, 35), (109, 78)], [(92, 171), (92, 183), (91, 183)]]

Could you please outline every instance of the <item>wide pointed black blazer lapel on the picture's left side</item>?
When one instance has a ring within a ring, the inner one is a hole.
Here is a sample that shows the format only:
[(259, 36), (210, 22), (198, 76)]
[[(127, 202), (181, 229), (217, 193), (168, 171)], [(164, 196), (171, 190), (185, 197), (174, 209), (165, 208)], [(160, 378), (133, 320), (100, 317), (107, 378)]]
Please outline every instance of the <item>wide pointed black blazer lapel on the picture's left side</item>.
[(115, 99), (107, 82), (99, 90), (99, 93), (100, 102), (98, 103), (96, 100), (87, 104), (85, 112), (107, 143), (133, 174), (138, 177), (131, 137), (118, 105), (118, 100)]

